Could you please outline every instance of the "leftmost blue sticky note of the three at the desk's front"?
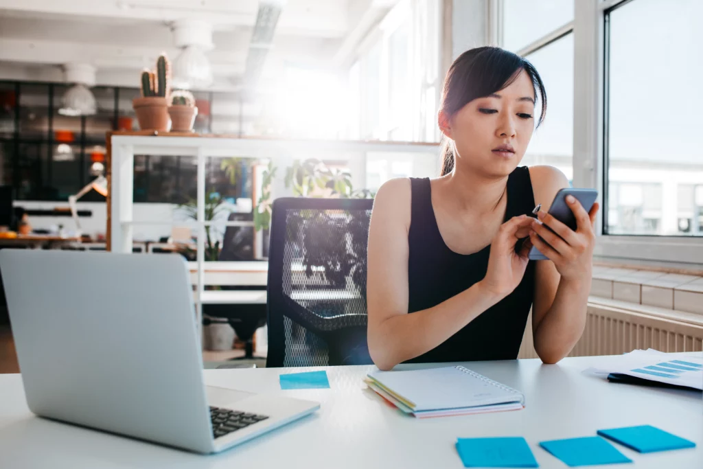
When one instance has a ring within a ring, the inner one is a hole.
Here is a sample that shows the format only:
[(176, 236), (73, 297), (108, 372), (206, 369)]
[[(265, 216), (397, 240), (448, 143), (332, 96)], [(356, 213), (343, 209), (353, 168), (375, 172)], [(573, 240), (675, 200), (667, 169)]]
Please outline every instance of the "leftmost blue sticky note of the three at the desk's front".
[(538, 468), (522, 437), (459, 438), (456, 451), (465, 468)]

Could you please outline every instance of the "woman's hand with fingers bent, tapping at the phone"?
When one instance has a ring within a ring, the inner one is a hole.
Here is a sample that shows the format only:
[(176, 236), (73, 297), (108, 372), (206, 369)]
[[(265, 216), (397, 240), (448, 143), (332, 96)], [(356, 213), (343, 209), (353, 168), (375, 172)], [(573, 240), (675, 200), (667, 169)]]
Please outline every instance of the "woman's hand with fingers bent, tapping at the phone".
[[(482, 290), (496, 297), (497, 301), (510, 295), (522, 281), (522, 276), (529, 262), (529, 250), (532, 243), (527, 238), (531, 229), (532, 218), (527, 215), (512, 217), (498, 229), (498, 234), (491, 243), (486, 276), (479, 282)], [(515, 252), (515, 245), (522, 239), (522, 247)]]

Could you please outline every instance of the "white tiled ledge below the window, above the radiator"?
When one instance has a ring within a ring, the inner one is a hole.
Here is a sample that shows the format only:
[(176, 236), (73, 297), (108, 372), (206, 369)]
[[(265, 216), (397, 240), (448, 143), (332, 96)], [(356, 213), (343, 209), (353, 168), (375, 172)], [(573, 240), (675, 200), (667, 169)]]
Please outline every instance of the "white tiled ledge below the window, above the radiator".
[(591, 295), (703, 314), (703, 277), (593, 267)]

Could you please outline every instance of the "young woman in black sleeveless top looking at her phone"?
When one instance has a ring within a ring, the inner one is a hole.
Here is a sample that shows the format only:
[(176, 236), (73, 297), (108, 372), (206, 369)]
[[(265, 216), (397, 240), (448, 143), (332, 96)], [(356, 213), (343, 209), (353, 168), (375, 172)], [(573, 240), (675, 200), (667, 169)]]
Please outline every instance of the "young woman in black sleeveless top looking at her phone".
[[(545, 211), (527, 216), (568, 186), (553, 167), (518, 167), (536, 103), (541, 122), (546, 93), (527, 60), (496, 47), (463, 53), (444, 82), (441, 177), (393, 179), (378, 191), (368, 239), (368, 347), (382, 370), (404, 361), (515, 359), (530, 307), (545, 363), (581, 337), (598, 205), (588, 213), (567, 198), (576, 231)], [(550, 260), (529, 261), (531, 245)]]

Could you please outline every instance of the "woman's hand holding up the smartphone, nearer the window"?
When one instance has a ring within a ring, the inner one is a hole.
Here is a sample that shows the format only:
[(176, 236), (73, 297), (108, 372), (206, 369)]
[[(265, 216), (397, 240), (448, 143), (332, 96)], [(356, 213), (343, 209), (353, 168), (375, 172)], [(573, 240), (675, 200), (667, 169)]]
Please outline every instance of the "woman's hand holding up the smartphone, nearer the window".
[(567, 195), (567, 204), (576, 217), (576, 231), (540, 211), (537, 214), (539, 221), (532, 222), (534, 232), (530, 234), (530, 240), (535, 248), (554, 262), (562, 278), (590, 278), (595, 246), (595, 215), (599, 205), (593, 204), (591, 212), (586, 212), (573, 195)]

